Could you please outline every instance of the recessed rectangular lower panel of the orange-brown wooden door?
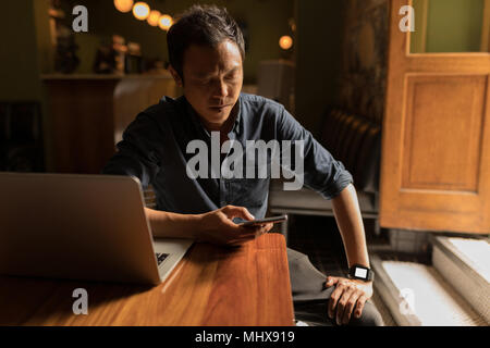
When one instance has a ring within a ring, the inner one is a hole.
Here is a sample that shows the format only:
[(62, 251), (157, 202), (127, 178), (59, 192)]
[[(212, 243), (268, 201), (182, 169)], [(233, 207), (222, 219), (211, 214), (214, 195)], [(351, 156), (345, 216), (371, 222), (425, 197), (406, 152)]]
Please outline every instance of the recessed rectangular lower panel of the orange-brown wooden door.
[(487, 76), (408, 75), (402, 188), (478, 190)]

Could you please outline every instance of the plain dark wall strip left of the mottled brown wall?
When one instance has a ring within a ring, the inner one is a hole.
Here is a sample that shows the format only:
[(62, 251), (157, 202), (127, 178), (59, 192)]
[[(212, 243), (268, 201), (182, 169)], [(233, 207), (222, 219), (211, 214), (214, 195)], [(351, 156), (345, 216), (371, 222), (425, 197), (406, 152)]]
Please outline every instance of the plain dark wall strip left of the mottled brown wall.
[(298, 0), (295, 116), (318, 136), (321, 116), (335, 103), (341, 69), (344, 0)]

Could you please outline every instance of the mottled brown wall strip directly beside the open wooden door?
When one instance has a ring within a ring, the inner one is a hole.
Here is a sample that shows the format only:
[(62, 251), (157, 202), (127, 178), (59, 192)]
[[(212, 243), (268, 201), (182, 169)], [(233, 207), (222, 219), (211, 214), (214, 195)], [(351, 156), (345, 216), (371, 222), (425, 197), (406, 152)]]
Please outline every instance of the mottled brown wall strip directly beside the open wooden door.
[(336, 104), (381, 123), (388, 67), (389, 1), (345, 1)]

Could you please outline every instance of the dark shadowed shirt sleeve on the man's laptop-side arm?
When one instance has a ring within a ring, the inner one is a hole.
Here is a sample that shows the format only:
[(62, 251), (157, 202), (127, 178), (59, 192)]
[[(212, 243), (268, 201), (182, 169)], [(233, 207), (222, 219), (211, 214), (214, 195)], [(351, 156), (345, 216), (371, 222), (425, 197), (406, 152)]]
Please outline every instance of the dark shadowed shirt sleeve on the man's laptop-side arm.
[(117, 152), (102, 169), (102, 174), (136, 176), (144, 188), (160, 170), (160, 153), (157, 144), (161, 132), (157, 122), (142, 112), (124, 130), (117, 144)]

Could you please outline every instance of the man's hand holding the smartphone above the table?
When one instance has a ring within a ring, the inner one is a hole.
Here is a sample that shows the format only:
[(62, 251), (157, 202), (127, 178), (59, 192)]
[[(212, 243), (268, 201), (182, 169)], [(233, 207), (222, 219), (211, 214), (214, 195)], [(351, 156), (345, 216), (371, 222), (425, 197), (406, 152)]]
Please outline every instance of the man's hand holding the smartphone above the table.
[(197, 240), (210, 241), (220, 245), (237, 246), (247, 240), (252, 240), (267, 232), (273, 224), (262, 224), (258, 226), (240, 226), (233, 222), (234, 217), (247, 221), (254, 216), (246, 208), (226, 206), (218, 210), (199, 215), (199, 232), (196, 234)]

